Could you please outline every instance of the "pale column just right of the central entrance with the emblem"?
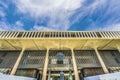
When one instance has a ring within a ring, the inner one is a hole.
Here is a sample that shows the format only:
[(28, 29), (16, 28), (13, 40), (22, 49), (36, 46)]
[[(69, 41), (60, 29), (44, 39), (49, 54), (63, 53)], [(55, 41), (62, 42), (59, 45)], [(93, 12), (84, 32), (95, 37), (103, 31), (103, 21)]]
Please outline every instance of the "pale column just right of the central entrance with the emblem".
[(73, 49), (71, 49), (71, 56), (72, 56), (72, 61), (73, 61), (73, 69), (74, 69), (74, 74), (75, 74), (75, 80), (80, 80), (79, 75), (78, 75), (78, 69), (77, 69), (77, 64), (76, 64), (76, 59), (75, 59), (75, 54)]

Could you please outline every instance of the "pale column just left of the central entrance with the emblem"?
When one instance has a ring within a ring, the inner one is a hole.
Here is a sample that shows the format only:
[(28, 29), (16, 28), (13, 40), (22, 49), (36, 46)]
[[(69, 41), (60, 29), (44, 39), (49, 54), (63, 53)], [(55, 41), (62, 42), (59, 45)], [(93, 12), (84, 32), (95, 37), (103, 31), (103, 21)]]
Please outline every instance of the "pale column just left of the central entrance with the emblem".
[(44, 63), (44, 68), (43, 68), (42, 80), (46, 80), (47, 69), (48, 69), (48, 60), (49, 60), (49, 49), (47, 49), (47, 52), (46, 52), (46, 57), (45, 57), (45, 63)]

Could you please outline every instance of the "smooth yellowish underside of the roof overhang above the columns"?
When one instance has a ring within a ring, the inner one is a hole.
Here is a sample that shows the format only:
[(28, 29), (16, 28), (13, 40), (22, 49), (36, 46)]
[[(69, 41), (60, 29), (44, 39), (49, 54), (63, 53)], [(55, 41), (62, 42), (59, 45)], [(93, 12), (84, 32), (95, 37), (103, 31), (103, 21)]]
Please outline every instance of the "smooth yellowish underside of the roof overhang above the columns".
[(80, 49), (92, 50), (114, 50), (120, 46), (120, 39), (102, 38), (15, 38), (0, 39), (0, 50), (43, 50), (49, 49)]

